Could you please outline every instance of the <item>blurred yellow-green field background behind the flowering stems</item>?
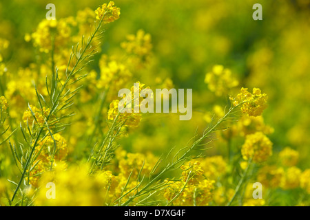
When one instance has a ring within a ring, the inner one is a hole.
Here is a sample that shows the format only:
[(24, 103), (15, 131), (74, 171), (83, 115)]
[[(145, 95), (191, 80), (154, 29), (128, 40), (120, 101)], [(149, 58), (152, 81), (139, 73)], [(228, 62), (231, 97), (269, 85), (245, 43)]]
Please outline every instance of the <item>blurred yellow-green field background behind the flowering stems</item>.
[[(166, 83), (176, 89), (193, 89), (192, 120), (179, 121), (178, 115), (174, 114), (143, 115), (141, 125), (119, 141), (123, 148), (161, 155), (173, 146), (185, 146), (196, 129), (201, 133), (209, 122), (206, 115), (214, 112), (215, 106), (224, 109), (227, 105), (227, 96), (216, 96), (205, 83), (205, 75), (212, 67), (223, 65), (231, 69), (232, 76), (239, 82), (236, 90), (231, 89), (228, 95), (236, 95), (240, 87), (249, 90), (258, 87), (269, 96), (269, 106), (262, 116), (264, 123), (273, 128), (269, 138), (274, 154), (290, 146), (300, 153), (298, 167), (309, 168), (309, 0), (114, 2), (121, 8), (121, 16), (107, 26), (101, 54), (122, 54), (121, 43), (126, 41), (128, 34), (136, 34), (138, 30), (144, 30), (152, 37), (152, 58), (145, 68), (132, 71), (128, 88), (140, 80), (155, 89), (156, 82), (169, 78), (171, 81)], [(31, 42), (25, 41), (25, 36), (35, 32), (37, 25), (45, 19), (48, 3), (56, 5), (56, 19), (61, 19), (76, 17), (78, 11), (85, 8), (94, 10), (104, 2), (1, 0), (0, 39), (9, 41), (1, 54), (6, 63), (6, 74), (13, 78), (19, 77), (17, 73), (21, 68), (29, 67), (39, 59), (39, 52), (33, 50)], [(252, 19), (254, 3), (262, 5), (262, 21)], [(99, 73), (100, 58), (100, 54), (96, 56), (89, 69)], [(0, 95), (8, 89), (4, 87)], [(87, 115), (87, 109), (92, 109), (93, 103), (80, 104), (77, 111)], [(108, 106), (109, 103), (103, 110), (103, 121)], [(14, 103), (10, 109), (14, 109)], [(27, 109), (26, 102), (21, 109)], [(21, 116), (22, 112), (19, 112), (12, 117), (16, 124), (21, 121)], [(83, 152), (87, 151), (87, 141), (82, 138), (87, 126), (90, 124), (76, 119), (67, 133), (74, 148), (72, 159), (83, 157)], [(236, 146), (243, 142), (244, 139), (237, 138)], [(227, 152), (221, 146), (225, 145), (223, 142), (211, 145), (209, 155)]]

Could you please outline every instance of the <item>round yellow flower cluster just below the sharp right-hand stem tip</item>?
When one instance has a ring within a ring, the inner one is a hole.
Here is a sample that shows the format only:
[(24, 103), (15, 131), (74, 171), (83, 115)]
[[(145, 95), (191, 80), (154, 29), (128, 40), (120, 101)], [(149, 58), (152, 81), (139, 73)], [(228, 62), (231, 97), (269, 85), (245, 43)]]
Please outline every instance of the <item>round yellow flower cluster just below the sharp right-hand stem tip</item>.
[(262, 132), (247, 135), (241, 154), (245, 160), (253, 158), (254, 162), (265, 162), (272, 155), (272, 142)]

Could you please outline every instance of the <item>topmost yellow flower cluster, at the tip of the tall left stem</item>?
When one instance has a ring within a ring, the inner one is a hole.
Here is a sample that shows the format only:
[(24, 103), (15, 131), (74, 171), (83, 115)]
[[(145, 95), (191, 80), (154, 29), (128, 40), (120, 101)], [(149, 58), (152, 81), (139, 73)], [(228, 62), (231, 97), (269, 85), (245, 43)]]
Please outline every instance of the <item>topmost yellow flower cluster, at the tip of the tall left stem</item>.
[(104, 3), (95, 10), (96, 19), (103, 19), (103, 23), (111, 23), (119, 19), (119, 15), (121, 14), (120, 10), (120, 8), (114, 6), (114, 1), (110, 1), (108, 4)]

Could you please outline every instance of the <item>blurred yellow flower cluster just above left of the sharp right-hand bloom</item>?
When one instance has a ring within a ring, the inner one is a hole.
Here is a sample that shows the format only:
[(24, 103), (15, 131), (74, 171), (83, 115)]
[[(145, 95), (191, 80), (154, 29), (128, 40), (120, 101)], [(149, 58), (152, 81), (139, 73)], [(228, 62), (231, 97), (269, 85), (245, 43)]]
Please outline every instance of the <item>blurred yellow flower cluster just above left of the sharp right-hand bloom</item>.
[(214, 65), (212, 72), (205, 75), (205, 83), (216, 96), (227, 94), (229, 89), (239, 84), (238, 80), (231, 76), (230, 69), (225, 69), (223, 65)]

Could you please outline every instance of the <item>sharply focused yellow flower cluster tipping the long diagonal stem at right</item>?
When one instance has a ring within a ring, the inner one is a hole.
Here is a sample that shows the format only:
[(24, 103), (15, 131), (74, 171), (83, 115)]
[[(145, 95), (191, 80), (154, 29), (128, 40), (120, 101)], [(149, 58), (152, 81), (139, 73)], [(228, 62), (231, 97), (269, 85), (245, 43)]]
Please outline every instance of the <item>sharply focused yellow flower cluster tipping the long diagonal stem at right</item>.
[(262, 114), (267, 107), (268, 96), (261, 94), (260, 89), (254, 88), (253, 94), (247, 91), (247, 88), (241, 88), (240, 94), (236, 98), (230, 98), (234, 100), (234, 106), (243, 102), (241, 111), (249, 116), (258, 116)]

